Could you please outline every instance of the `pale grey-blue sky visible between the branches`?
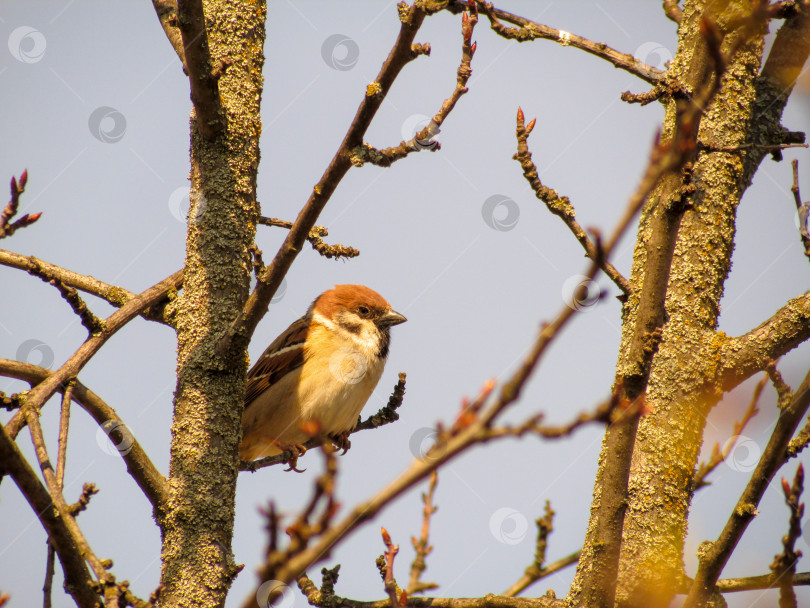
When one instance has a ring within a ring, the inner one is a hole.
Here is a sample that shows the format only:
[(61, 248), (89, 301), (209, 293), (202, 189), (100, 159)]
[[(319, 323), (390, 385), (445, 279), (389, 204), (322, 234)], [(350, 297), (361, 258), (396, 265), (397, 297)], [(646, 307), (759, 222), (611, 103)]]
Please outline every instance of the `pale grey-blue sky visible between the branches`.
[[(583, 0), (503, 7), (659, 63), (675, 44), (675, 26), (660, 4)], [(258, 192), (265, 215), (292, 220), (340, 143), (366, 84), (393, 43), (398, 20), (393, 2), (286, 1), (271, 3), (268, 14)], [(342, 64), (329, 65), (323, 47), (336, 34), (351, 42), (346, 51), (336, 50), (332, 61)], [(0, 179), (28, 168), (23, 212), (43, 212), (34, 227), (2, 246), (132, 291), (177, 270), (184, 250), (190, 102), (187, 81), (151, 3), (6, 2), (0, 8), (0, 38), (11, 41), (0, 49)], [(584, 226), (604, 231), (612, 229), (637, 184), (662, 117), (658, 104), (642, 108), (619, 100), (622, 91), (645, 91), (643, 82), (585, 53), (545, 41), (504, 41), (488, 31), (485, 19), (474, 39), (478, 51), (470, 92), (438, 136), (441, 151), (411, 155), (390, 169), (369, 166), (349, 173), (318, 223), (329, 228), (328, 242), (357, 247), (360, 257), (335, 262), (307, 247), (250, 347), (255, 358), (335, 283), (367, 284), (408, 317), (393, 330), (386, 372), (365, 411), (383, 405), (397, 372), (405, 371), (401, 420), (356, 435), (351, 451), (340, 458), (338, 494), (345, 508), (402, 471), (413, 458), (411, 445), (436, 421), (451, 420), (462, 396), (514, 370), (538, 324), (562, 305), (563, 286), (586, 267), (579, 244), (534, 198), (511, 159), (517, 106), (527, 119), (537, 117), (529, 142), (544, 183), (571, 198)], [(409, 136), (419, 117), (433, 115), (455, 86), (459, 18), (430, 17), (417, 41), (430, 42), (433, 52), (403, 70), (369, 130), (372, 145), (395, 145)], [(107, 118), (94, 131), (89, 123), (100, 107), (111, 110), (101, 112)], [(784, 124), (807, 131), (809, 110), (807, 97), (794, 96)], [(111, 141), (101, 141), (105, 138)], [(789, 159), (801, 159), (808, 197), (810, 156), (806, 150), (785, 156), (782, 163), (764, 161), (740, 207), (721, 319), (721, 329), (731, 335), (755, 327), (808, 287), (808, 264), (794, 225)], [(509, 230), (493, 229), (482, 217), (485, 201), (496, 195), (511, 199), (519, 210)], [(283, 236), (282, 230), (259, 227), (257, 243), (266, 260)], [(631, 254), (632, 238), (622, 243), (614, 260), (624, 272)], [(615, 295), (608, 281), (600, 278), (599, 283)], [(29, 360), (38, 363), (41, 353), (45, 363), (59, 366), (84, 339), (84, 328), (56, 290), (38, 279), (0, 267), (0, 284), (0, 356), (30, 353)], [(97, 314), (112, 310), (92, 297), (87, 301)], [(614, 374), (619, 327), (619, 305), (612, 297), (579, 315), (509, 419), (545, 411), (549, 420), (564, 421), (603, 399)], [(118, 410), (164, 473), (174, 351), (169, 328), (136, 320), (80, 376)], [(809, 359), (807, 346), (783, 359), (789, 383), (798, 383)], [(0, 379), (0, 390), (21, 388)], [(707, 449), (731, 435), (750, 388), (748, 383), (712, 414)], [(755, 451), (767, 441), (774, 417), (770, 393), (759, 419), (745, 431)], [(43, 414), (51, 438), (57, 410), (51, 402)], [(435, 550), (424, 576), (440, 584), (436, 593), (474, 596), (509, 587), (532, 561), (533, 520), (546, 499), (557, 511), (549, 560), (580, 547), (601, 436), (602, 429), (594, 427), (556, 443), (534, 438), (493, 443), (443, 469), (432, 526)], [(119, 580), (130, 580), (137, 594), (148, 596), (159, 577), (158, 530), (147, 501), (117, 454), (105, 451), (103, 439), (76, 407), (66, 494), (75, 499), (85, 481), (99, 486), (80, 524), (97, 553), (115, 561)], [(30, 454), (26, 433), (19, 442)], [(746, 456), (737, 453), (737, 468), (745, 468)], [(806, 455), (803, 459), (810, 464)], [(239, 605), (256, 582), (255, 567), (265, 547), (259, 507), (273, 498), (283, 513), (294, 513), (309, 494), (321, 458), (308, 455), (301, 465), (307, 468), (303, 475), (284, 473), (281, 467), (242, 474), (234, 551), (246, 567), (229, 605)], [(783, 474), (792, 476), (794, 469), (791, 464)], [(715, 486), (694, 501), (686, 550), (690, 574), (698, 543), (716, 536), (746, 475), (721, 465), (713, 480)], [(322, 565), (341, 563), (339, 594), (383, 597), (374, 559), (384, 549), (379, 535), (384, 525), (401, 546), (396, 574), (407, 581), (413, 557), (409, 539), (419, 532), (424, 489), (385, 510), (310, 575), (319, 582)], [(777, 490), (767, 494), (726, 576), (768, 571), (787, 525)], [(500, 526), (498, 518), (503, 519)], [(0, 521), (0, 589), (11, 593), (12, 606), (36, 605), (41, 602), (45, 536), (10, 480), (0, 489)], [(804, 540), (799, 548), (810, 549)], [(806, 561), (800, 569), (807, 569)], [(572, 576), (569, 568), (533, 591), (553, 588), (562, 595)], [(810, 600), (806, 591), (800, 597), (800, 603)], [(61, 587), (54, 600), (55, 606), (70, 605)], [(749, 593), (731, 600), (732, 606), (764, 607), (773, 605), (775, 596)], [(299, 595), (290, 601), (296, 608), (305, 606)]]

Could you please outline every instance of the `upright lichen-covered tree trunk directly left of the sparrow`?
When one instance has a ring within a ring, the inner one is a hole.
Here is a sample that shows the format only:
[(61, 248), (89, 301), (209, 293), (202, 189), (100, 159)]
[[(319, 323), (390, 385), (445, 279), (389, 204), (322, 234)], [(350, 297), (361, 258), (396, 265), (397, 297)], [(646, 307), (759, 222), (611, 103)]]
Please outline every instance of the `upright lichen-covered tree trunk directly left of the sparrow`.
[[(161, 606), (222, 606), (237, 573), (231, 555), (237, 445), (247, 357), (214, 353), (247, 299), (256, 219), (263, 2), (205, 2), (211, 63), (224, 73), (221, 133), (191, 119), (191, 208), (186, 274), (177, 307), (169, 500)], [(215, 69), (217, 71), (217, 69)]]

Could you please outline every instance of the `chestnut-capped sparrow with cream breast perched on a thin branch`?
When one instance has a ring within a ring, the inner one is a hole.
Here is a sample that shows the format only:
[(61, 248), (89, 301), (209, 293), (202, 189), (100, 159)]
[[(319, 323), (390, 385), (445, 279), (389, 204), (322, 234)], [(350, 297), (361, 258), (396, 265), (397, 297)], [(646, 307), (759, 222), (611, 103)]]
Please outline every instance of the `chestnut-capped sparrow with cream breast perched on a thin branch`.
[(289, 450), (297, 459), (316, 436), (348, 449), (382, 375), (390, 329), (406, 320), (364, 285), (336, 285), (318, 296), (247, 374), (239, 457)]

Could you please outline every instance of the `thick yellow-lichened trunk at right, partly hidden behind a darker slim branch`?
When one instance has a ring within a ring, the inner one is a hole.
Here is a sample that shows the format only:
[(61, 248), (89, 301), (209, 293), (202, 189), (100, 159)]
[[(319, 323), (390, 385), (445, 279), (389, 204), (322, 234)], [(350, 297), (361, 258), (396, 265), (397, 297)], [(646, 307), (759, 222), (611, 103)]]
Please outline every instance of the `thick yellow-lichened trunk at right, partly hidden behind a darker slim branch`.
[[(699, 20), (706, 2), (687, 2), (679, 30), (678, 53), (670, 76), (694, 88), (710, 65)], [(721, 31), (741, 5), (710, 7)], [(731, 48), (739, 33), (725, 39)], [(774, 143), (786, 95), (767, 102), (770, 90), (757, 78), (762, 38), (754, 36), (734, 56), (720, 93), (701, 121), (699, 145), (734, 147), (744, 143)], [(762, 104), (762, 105), (761, 105)], [(767, 104), (767, 107), (765, 107)], [(667, 103), (664, 139), (672, 132), (673, 102)], [(756, 130), (751, 125), (757, 124)], [(683, 588), (683, 546), (691, 500), (691, 480), (699, 455), (706, 416), (722, 396), (718, 386), (719, 353), (728, 338), (717, 332), (720, 298), (731, 267), (737, 205), (762, 152), (716, 152), (703, 149), (693, 171), (693, 208), (686, 213), (676, 244), (666, 298), (668, 322), (656, 354), (647, 389), (652, 413), (642, 418), (629, 482), (629, 504), (624, 520), (617, 603), (621, 606), (667, 606), (676, 589)], [(632, 364), (629, 342), (637, 316), (638, 297), (647, 271), (647, 242), (654, 210), (672, 200), (672, 180), (662, 180), (642, 212), (630, 283), (633, 296), (624, 308), (622, 344), (617, 376)], [(751, 372), (753, 373), (753, 371)], [(599, 487), (612, 454), (603, 445), (591, 522), (569, 602), (583, 605), (583, 582), (600, 553), (594, 538), (599, 512)]]

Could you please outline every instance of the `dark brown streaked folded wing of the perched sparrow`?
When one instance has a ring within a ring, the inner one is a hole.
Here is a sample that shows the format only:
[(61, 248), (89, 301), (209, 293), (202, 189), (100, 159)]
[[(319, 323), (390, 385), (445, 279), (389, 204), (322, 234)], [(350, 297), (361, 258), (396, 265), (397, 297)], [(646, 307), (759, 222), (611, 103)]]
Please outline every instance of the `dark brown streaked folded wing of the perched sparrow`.
[(309, 332), (309, 319), (301, 317), (273, 340), (247, 375), (245, 405), (304, 364), (304, 341)]

